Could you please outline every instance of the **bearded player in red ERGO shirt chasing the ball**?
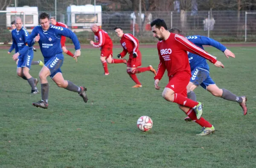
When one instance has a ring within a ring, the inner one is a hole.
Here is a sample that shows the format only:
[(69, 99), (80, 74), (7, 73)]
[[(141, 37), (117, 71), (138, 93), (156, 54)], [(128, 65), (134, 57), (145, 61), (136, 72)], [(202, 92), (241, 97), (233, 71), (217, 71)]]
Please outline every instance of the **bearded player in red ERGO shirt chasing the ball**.
[(203, 127), (201, 133), (198, 135), (204, 136), (214, 133), (215, 128), (213, 125), (201, 117), (203, 114), (203, 104), (187, 98), (186, 86), (189, 84), (191, 77), (187, 52), (192, 52), (206, 58), (216, 67), (224, 68), (224, 65), (220, 61), (217, 61), (216, 57), (195, 46), (195, 44), (189, 42), (185, 37), (170, 33), (164, 20), (153, 20), (151, 22), (151, 28), (154, 37), (159, 40), (157, 50), (160, 63), (158, 65), (157, 75), (154, 77), (155, 88), (157, 90), (160, 89), (158, 86), (159, 81), (163, 77), (165, 70), (167, 70), (169, 83), (163, 90), (163, 98), (179, 104), (180, 109), (187, 116)]

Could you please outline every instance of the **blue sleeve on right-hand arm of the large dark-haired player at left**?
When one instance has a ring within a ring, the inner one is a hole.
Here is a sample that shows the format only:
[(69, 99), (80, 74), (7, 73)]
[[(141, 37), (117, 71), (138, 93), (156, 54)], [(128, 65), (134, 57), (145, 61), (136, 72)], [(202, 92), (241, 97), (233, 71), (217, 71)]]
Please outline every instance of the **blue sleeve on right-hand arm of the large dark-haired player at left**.
[(60, 29), (55, 29), (56, 34), (63, 35), (65, 37), (70, 38), (75, 46), (75, 49), (76, 50), (80, 49), (80, 43), (78, 41), (78, 38), (76, 37), (76, 34), (73, 33), (70, 29), (67, 29), (64, 27), (59, 27), (59, 28)]

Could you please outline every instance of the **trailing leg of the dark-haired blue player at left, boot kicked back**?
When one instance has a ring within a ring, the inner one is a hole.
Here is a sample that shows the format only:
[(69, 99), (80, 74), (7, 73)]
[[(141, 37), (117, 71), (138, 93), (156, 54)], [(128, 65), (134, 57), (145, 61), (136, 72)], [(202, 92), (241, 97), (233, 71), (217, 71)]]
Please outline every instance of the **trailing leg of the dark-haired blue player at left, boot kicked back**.
[(79, 87), (73, 84), (71, 81), (64, 80), (60, 69), (57, 70), (56, 72), (51, 74), (51, 78), (58, 85), (58, 87), (62, 87), (72, 92), (76, 92), (83, 98), (85, 103), (88, 101), (88, 98), (86, 95), (87, 88), (85, 88), (84, 86)]

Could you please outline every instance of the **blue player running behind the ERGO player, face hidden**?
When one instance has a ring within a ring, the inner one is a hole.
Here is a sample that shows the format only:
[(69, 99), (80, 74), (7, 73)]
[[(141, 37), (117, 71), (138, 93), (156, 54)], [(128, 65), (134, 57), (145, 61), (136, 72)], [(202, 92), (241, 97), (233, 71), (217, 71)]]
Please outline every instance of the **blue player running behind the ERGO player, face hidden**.
[[(180, 34), (180, 29), (172, 28), (169, 29), (169, 32)], [(229, 58), (235, 58), (235, 55), (233, 52), (231, 52), (229, 49), (227, 49), (224, 45), (219, 43), (218, 41), (215, 41), (211, 38), (207, 38), (205, 36), (201, 35), (193, 35), (193, 36), (187, 36), (186, 37), (189, 41), (200, 47), (203, 48), (203, 45), (213, 46), (220, 51), (224, 52), (224, 55)], [(229, 101), (235, 101), (240, 104), (242, 107), (244, 115), (247, 113), (247, 106), (246, 96), (236, 96), (235, 94), (231, 93), (229, 90), (226, 89), (220, 89), (215, 84), (215, 82), (212, 80), (212, 78), (209, 75), (209, 65), (206, 62), (206, 59), (196, 55), (189, 53), (189, 64), (191, 68), (191, 74), (192, 77), (190, 78), (190, 82), (187, 86), (187, 92), (188, 92), (188, 98), (196, 101), (196, 96), (193, 90), (197, 88), (199, 85), (203, 87), (205, 90), (208, 90), (210, 93), (212, 93), (213, 96), (221, 97)], [(189, 117), (185, 119), (186, 122), (191, 121)]]

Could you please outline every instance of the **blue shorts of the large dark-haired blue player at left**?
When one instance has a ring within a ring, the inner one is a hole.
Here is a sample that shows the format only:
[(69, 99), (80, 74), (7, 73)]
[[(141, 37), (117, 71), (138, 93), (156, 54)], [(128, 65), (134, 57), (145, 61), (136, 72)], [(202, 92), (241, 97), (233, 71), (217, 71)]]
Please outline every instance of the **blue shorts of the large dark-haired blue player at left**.
[(56, 54), (51, 58), (44, 58), (44, 66), (46, 66), (50, 71), (50, 77), (53, 78), (57, 73), (61, 72), (61, 66), (63, 64), (63, 54)]

